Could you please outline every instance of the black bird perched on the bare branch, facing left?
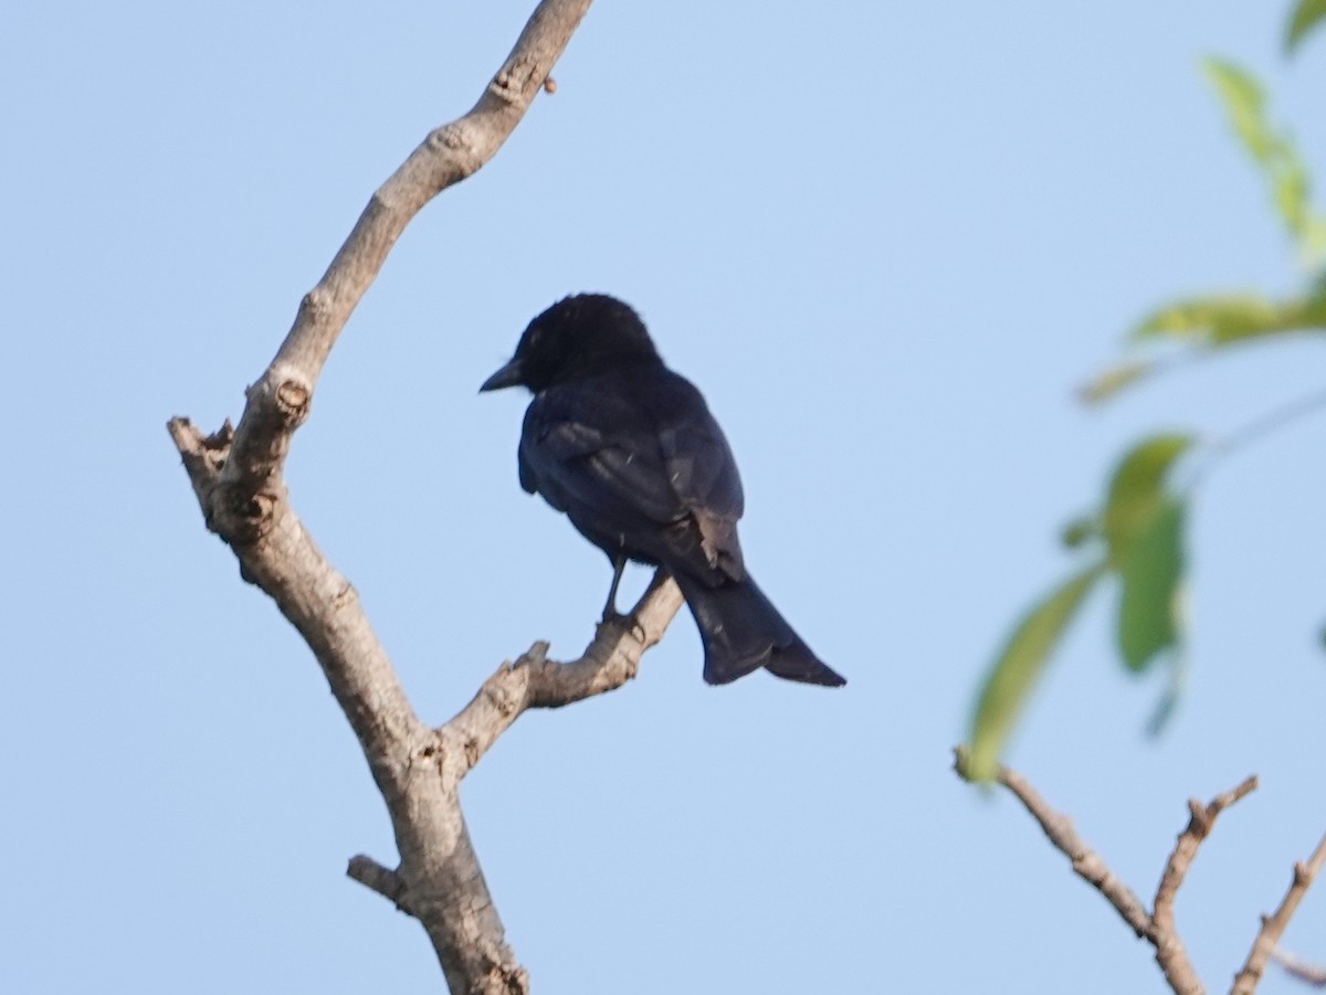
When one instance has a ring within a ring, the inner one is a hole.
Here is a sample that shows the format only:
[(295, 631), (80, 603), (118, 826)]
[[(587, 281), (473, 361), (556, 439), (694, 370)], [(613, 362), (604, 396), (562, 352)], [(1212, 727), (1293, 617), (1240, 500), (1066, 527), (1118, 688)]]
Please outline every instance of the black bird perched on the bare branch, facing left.
[(525, 329), (480, 391), (528, 387), (520, 485), (565, 511), (613, 562), (603, 617), (617, 617), (626, 560), (667, 570), (704, 640), (704, 680), (765, 668), (838, 686), (747, 572), (741, 478), (723, 429), (668, 370), (639, 315), (606, 294), (558, 301)]

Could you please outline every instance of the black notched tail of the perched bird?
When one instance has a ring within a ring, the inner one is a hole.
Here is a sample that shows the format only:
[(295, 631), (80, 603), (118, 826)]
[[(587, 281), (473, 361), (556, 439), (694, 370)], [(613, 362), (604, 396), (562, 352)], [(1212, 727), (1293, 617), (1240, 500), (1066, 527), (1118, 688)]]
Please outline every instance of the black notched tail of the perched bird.
[(801, 641), (749, 574), (708, 587), (676, 572), (704, 641), (704, 680), (728, 684), (761, 666), (776, 677), (837, 688), (847, 681)]

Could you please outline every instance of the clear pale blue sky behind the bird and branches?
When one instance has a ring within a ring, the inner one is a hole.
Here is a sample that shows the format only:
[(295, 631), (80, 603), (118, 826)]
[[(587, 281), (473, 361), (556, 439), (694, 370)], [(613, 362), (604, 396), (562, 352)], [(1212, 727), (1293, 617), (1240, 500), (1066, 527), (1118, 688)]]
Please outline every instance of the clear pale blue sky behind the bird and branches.
[[(325, 681), (207, 534), (166, 435), (237, 417), (369, 193), (465, 111), (528, 0), (8, 9), (0, 405), (0, 987), (442, 984), (343, 876), (394, 861)], [(1326, 170), (1326, 36), (1286, 4), (597, 4), (481, 174), (406, 232), (298, 433), (298, 513), (440, 722), (534, 639), (574, 656), (603, 556), (516, 482), (524, 399), (479, 396), (558, 297), (634, 303), (705, 392), (764, 588), (850, 684), (713, 689), (680, 616), (630, 686), (529, 714), (465, 782), (541, 995), (1160, 992), (1150, 949), (1006, 796), (949, 771), (1058, 526), (1126, 443), (1220, 435), (1321, 383), (1302, 339), (1073, 388), (1171, 297), (1294, 286), (1197, 60), (1262, 74)], [(1326, 419), (1195, 511), (1187, 698), (1124, 677), (1098, 598), (1010, 762), (1223, 990), (1326, 828)], [(634, 575), (638, 588), (643, 571)], [(1288, 934), (1326, 959), (1326, 885)], [(1274, 972), (1265, 992), (1294, 991)]]

